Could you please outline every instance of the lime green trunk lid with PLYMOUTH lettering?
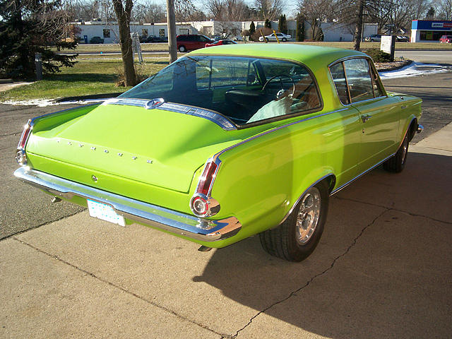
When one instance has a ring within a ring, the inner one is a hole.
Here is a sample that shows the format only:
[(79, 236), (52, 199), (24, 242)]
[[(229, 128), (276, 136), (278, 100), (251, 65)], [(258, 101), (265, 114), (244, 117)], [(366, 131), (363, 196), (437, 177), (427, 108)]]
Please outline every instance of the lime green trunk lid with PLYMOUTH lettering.
[(64, 124), (40, 130), (27, 151), (59, 162), (188, 192), (196, 169), (236, 143), (215, 122), (164, 109), (100, 105)]

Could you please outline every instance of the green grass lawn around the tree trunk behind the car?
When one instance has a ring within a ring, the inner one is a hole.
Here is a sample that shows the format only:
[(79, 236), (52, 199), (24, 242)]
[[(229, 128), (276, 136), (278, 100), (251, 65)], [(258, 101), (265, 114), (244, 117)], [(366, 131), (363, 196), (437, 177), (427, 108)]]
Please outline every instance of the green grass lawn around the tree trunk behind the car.
[[(137, 69), (143, 76), (150, 76), (167, 64), (167, 58), (153, 58), (146, 60), (145, 64), (138, 65)], [(44, 75), (42, 81), (0, 93), (0, 101), (57, 99), (58, 97), (123, 92), (129, 88), (114, 85), (121, 69), (120, 59), (79, 59), (76, 66), (61, 68), (61, 73)]]

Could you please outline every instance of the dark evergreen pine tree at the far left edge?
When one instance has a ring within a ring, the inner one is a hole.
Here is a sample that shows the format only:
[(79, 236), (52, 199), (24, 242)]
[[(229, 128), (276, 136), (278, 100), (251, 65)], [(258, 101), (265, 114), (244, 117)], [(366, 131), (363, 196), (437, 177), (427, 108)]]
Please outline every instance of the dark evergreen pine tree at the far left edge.
[(46, 73), (73, 66), (76, 55), (56, 54), (50, 49), (75, 49), (77, 41), (67, 42), (66, 16), (61, 0), (0, 0), (0, 76), (32, 78), (35, 53), (42, 55)]

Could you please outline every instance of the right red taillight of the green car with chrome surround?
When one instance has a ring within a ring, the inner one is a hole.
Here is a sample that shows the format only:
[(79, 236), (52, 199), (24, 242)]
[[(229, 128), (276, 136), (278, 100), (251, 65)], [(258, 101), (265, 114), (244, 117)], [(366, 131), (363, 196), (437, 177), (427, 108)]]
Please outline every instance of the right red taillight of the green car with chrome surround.
[(220, 166), (220, 160), (208, 160), (204, 166), (203, 174), (196, 186), (196, 192), (190, 200), (190, 209), (198, 217), (209, 217), (220, 210), (220, 204), (210, 196), (213, 182)]

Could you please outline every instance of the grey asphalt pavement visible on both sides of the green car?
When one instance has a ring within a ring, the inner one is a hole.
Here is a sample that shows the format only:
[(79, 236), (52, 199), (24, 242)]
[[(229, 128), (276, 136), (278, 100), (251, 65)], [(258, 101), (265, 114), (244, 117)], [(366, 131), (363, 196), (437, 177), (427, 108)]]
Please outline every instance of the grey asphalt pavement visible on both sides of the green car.
[[(413, 85), (414, 84), (414, 85)], [(425, 131), (413, 142), (420, 141), (452, 121), (452, 73), (385, 81), (388, 90), (423, 98)], [(0, 105), (0, 239), (47, 222), (78, 213), (83, 208), (69, 203), (50, 203), (50, 197), (14, 179), (17, 168), (14, 155), (23, 124), (31, 117), (74, 107)]]

